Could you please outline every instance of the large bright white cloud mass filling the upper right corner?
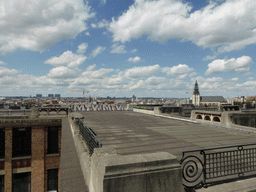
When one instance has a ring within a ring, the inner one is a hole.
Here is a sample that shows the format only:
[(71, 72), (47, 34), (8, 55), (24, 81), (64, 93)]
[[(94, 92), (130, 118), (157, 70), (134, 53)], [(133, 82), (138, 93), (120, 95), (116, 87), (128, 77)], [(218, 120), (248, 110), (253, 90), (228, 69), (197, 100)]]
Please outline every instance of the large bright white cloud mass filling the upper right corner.
[(217, 53), (256, 43), (256, 1), (209, 1), (201, 10), (191, 12), (192, 8), (182, 1), (136, 0), (112, 19), (109, 30), (113, 40), (122, 43), (146, 35), (159, 42), (191, 41), (203, 48), (216, 48)]

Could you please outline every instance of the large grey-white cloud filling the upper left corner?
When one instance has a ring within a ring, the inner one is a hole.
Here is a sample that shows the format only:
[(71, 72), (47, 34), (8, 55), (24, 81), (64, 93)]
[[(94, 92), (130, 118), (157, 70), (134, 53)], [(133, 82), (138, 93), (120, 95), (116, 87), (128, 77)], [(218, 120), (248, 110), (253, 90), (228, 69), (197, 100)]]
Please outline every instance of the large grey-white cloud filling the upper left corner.
[(42, 51), (75, 38), (95, 15), (82, 0), (3, 0), (0, 13), (0, 53), (19, 48)]

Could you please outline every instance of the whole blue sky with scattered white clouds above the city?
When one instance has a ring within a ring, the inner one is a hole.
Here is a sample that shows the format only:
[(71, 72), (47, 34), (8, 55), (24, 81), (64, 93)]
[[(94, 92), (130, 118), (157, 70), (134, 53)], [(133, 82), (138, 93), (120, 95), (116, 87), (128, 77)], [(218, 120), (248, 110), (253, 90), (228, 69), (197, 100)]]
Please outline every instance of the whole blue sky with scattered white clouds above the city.
[(254, 0), (3, 0), (1, 96), (256, 95)]

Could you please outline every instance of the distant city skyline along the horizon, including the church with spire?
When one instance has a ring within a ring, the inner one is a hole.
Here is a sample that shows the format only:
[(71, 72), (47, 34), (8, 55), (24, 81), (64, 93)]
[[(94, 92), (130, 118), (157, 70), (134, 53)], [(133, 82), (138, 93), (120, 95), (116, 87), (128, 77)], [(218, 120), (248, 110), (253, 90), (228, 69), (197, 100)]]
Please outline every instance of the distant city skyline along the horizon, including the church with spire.
[(0, 97), (0, 109), (29, 109), (33, 106), (65, 106), (72, 103), (93, 104), (161, 104), (170, 106), (193, 105), (201, 107), (217, 107), (223, 104), (239, 105), (240, 107), (255, 108), (256, 96), (241, 96), (225, 99), (223, 96), (201, 96), (197, 81), (194, 92), (188, 98), (157, 98), (157, 97), (61, 97), (61, 94), (36, 94), (35, 96)]

